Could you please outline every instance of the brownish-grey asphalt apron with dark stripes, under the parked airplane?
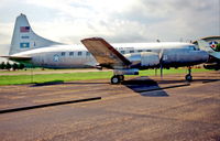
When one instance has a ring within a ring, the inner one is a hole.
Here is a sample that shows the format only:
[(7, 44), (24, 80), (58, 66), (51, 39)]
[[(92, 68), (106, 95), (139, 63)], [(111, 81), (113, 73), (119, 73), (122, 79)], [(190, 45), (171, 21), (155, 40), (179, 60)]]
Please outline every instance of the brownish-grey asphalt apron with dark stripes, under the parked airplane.
[(220, 141), (220, 72), (193, 75), (0, 86), (0, 140)]

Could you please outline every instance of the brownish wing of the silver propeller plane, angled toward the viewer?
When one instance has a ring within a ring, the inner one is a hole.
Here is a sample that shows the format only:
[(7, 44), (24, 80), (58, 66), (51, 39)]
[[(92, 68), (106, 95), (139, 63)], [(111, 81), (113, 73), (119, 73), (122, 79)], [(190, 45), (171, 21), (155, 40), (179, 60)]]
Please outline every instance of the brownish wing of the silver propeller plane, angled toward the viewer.
[(94, 55), (100, 66), (125, 68), (131, 62), (101, 37), (81, 40), (81, 43)]

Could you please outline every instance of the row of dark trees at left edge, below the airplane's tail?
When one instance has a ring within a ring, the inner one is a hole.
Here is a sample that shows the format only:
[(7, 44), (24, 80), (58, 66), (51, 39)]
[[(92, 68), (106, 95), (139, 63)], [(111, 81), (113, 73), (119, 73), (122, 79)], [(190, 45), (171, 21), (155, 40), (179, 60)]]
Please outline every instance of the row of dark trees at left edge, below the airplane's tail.
[(0, 69), (8, 69), (8, 70), (10, 70), (10, 69), (13, 69), (13, 70), (23, 69), (24, 67), (25, 66), (22, 63), (20, 63), (20, 64), (18, 64), (18, 63), (10, 64), (9, 62), (7, 62), (7, 63), (2, 62), (0, 64)]

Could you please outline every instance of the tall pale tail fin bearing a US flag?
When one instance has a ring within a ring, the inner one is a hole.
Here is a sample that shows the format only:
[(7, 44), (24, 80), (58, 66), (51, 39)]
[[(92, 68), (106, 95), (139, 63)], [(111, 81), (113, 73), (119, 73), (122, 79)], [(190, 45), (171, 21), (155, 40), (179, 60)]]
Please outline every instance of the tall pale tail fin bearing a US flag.
[(35, 34), (26, 15), (21, 13), (15, 21), (9, 55), (55, 44), (62, 43), (46, 40)]

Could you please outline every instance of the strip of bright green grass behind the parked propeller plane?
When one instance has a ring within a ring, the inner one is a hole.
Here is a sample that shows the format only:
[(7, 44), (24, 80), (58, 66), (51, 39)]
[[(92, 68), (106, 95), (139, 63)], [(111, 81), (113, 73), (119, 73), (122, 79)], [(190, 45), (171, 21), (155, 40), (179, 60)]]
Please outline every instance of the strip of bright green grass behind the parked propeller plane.
[[(164, 72), (164, 75), (186, 74), (187, 73), (187, 70), (184, 68), (164, 69), (163, 72)], [(193, 69), (193, 73), (196, 73), (196, 72), (208, 72), (208, 70), (207, 69)], [(153, 75), (155, 75), (154, 69), (140, 70), (140, 76), (153, 76)], [(160, 70), (157, 70), (157, 75), (160, 75)], [(112, 72), (41, 74), (41, 75), (33, 75), (33, 77), (31, 75), (2, 75), (2, 76), (0, 76), (0, 85), (101, 79), (101, 78), (111, 78), (111, 76), (112, 76)]]

